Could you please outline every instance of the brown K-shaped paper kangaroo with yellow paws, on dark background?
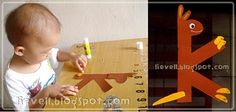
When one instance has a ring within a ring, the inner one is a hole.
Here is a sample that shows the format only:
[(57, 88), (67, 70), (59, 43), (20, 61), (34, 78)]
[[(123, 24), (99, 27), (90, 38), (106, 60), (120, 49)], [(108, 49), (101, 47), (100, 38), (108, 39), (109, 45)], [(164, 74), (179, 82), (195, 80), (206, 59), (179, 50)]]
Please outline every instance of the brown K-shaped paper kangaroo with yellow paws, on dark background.
[[(212, 41), (192, 52), (192, 36), (203, 31), (203, 25), (196, 20), (188, 19), (191, 12), (184, 13), (183, 5), (179, 5), (177, 14), (178, 24), (178, 67), (194, 66), (216, 55), (225, 48), (224, 37), (217, 36)], [(196, 38), (196, 37), (195, 37)], [(153, 103), (153, 106), (177, 100), (179, 103), (192, 102), (192, 87), (204, 92), (212, 98), (228, 102), (224, 94), (230, 90), (204, 77), (191, 69), (178, 70), (178, 92), (170, 94)]]

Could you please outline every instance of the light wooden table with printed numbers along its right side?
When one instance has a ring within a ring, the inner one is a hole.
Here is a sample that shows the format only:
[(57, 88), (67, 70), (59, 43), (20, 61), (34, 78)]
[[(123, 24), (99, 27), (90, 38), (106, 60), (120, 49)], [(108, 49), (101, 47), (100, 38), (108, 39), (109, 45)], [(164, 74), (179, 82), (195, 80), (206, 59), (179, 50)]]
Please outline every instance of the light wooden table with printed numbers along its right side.
[[(144, 49), (136, 48), (142, 41)], [(88, 60), (85, 73), (137, 73), (120, 84), (106, 79), (112, 86), (103, 92), (93, 80), (85, 85), (70, 101), (48, 99), (45, 110), (142, 110), (147, 109), (148, 100), (148, 55), (147, 38), (90, 43), (92, 59)], [(75, 44), (71, 52), (84, 54), (83, 44)], [(66, 62), (59, 74), (57, 84), (76, 85), (81, 80), (74, 79), (78, 73), (70, 62)], [(113, 99), (113, 100), (112, 100)], [(115, 100), (114, 100), (115, 99)], [(108, 101), (108, 102), (107, 102)]]

